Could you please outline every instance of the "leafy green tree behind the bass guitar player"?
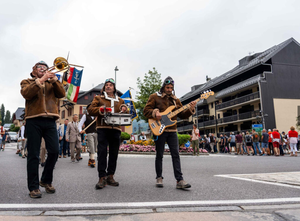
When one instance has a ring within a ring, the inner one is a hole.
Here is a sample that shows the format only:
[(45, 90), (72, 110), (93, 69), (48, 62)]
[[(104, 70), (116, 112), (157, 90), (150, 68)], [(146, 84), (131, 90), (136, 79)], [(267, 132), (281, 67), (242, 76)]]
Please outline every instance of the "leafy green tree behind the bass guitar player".
[(143, 115), (143, 110), (151, 94), (159, 91), (161, 88), (161, 74), (158, 74), (157, 70), (153, 68), (153, 71), (149, 70), (145, 73), (144, 80), (141, 81), (137, 78), (137, 87), (140, 91), (137, 91), (137, 96), (135, 97), (138, 101), (135, 103), (137, 109), (138, 118), (137, 121), (144, 120), (148, 122), (148, 119)]

